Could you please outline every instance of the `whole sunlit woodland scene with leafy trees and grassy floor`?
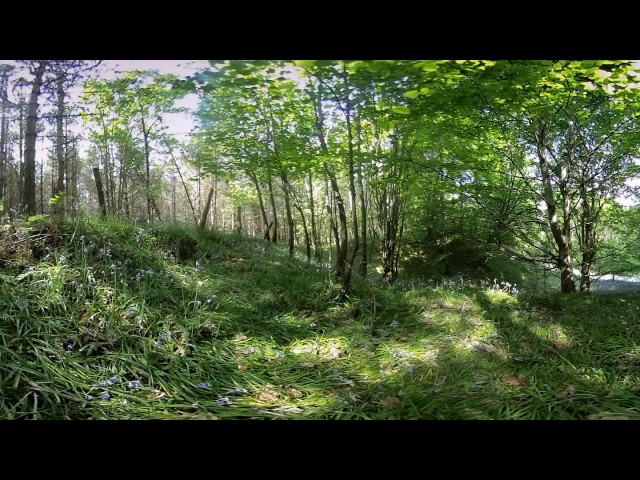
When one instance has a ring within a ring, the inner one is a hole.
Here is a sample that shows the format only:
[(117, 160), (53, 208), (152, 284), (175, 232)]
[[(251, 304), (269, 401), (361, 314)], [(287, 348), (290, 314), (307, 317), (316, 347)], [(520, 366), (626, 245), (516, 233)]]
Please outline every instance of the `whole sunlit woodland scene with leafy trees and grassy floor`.
[(639, 61), (128, 63), (0, 61), (0, 418), (640, 418)]

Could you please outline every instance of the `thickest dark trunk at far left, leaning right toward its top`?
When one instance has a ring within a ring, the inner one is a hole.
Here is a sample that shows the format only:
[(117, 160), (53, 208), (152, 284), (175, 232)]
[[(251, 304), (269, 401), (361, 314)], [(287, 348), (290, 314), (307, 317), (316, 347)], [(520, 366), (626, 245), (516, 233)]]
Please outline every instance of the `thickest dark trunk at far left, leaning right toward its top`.
[(38, 97), (42, 86), (42, 77), (49, 60), (37, 60), (34, 67), (33, 84), (29, 104), (27, 105), (27, 128), (25, 132), (24, 190), (22, 204), (28, 215), (36, 213), (36, 137), (38, 126)]

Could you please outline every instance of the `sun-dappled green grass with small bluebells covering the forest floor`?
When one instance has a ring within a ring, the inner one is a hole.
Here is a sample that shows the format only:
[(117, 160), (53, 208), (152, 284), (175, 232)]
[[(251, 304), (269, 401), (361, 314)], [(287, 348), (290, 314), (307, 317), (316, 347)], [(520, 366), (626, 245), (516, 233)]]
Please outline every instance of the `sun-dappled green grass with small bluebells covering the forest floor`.
[(355, 278), (338, 302), (262, 240), (93, 219), (30, 238), (0, 237), (3, 419), (640, 418), (637, 295)]

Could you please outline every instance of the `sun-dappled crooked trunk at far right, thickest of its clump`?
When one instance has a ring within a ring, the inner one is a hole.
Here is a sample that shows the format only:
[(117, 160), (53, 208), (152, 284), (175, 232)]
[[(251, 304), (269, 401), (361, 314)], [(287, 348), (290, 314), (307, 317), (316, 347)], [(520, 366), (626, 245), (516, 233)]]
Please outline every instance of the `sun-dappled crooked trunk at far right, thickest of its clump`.
[[(576, 290), (576, 285), (573, 281), (573, 267), (571, 265), (571, 248), (570, 248), (570, 225), (558, 224), (558, 212), (556, 207), (556, 201), (553, 195), (553, 188), (551, 185), (551, 173), (549, 169), (549, 162), (547, 160), (546, 152), (546, 137), (545, 137), (546, 124), (543, 120), (538, 122), (538, 128), (536, 130), (536, 150), (538, 154), (538, 162), (540, 165), (540, 172), (542, 174), (543, 185), (543, 197), (547, 205), (547, 217), (549, 219), (549, 227), (553, 234), (553, 239), (556, 242), (558, 248), (557, 263), (560, 268), (560, 291), (562, 293), (572, 293)], [(566, 181), (567, 169), (562, 167), (560, 169), (560, 182)], [(563, 218), (565, 222), (569, 212), (566, 211), (568, 207), (568, 195), (563, 195), (563, 203), (565, 211), (563, 212)]]

